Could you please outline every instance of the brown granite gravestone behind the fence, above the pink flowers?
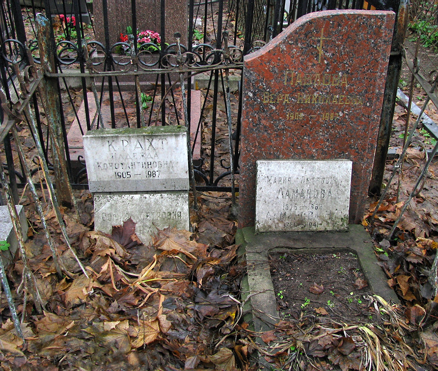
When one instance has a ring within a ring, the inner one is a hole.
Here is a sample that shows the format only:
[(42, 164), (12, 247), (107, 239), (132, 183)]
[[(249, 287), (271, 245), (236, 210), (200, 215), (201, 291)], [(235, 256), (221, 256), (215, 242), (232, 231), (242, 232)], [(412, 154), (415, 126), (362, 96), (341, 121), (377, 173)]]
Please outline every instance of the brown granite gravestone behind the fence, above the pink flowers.
[[(161, 34), (160, 1), (136, 1), (137, 28), (139, 31), (151, 30)], [(110, 45), (120, 41), (120, 33), (126, 33), (126, 27), (132, 26), (131, 0), (108, 0), (108, 27)], [(102, 0), (94, 0), (94, 29), (96, 40), (105, 45)], [(187, 45), (187, 1), (166, 0), (165, 2), (165, 40), (175, 42), (173, 34), (180, 32), (181, 43)]]

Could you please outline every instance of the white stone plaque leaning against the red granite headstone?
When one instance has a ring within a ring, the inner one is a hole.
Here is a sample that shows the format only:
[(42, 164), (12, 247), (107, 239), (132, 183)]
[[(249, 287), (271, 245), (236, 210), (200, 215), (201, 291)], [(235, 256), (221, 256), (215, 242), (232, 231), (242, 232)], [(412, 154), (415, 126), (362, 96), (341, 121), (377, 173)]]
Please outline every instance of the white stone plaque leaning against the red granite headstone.
[(349, 160), (256, 161), (255, 230), (347, 230)]

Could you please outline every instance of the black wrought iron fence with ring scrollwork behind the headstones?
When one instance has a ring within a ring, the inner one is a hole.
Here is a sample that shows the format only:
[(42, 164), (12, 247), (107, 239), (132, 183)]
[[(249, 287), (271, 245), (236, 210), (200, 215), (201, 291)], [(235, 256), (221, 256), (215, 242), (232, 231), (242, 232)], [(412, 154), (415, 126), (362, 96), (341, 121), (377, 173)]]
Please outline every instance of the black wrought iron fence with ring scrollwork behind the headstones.
[[(244, 55), (269, 41), (300, 15), (324, 9), (364, 6), (361, 0), (339, 3), (230, 0), (229, 4), (224, 0), (189, 0), (188, 32), (169, 35), (164, 27), (168, 17), (165, 0), (157, 1), (160, 4), (160, 30), (153, 30), (154, 34), (141, 33), (146, 30), (137, 33), (139, 2), (124, 0), (130, 5), (130, 23), (126, 30), (119, 30), (114, 36), (109, 33), (109, 0), (101, 0), (100, 22), (104, 40), (98, 41), (94, 39), (96, 14), (91, 17), (90, 26), (80, 22), (84, 14), (89, 14), (88, 8), (83, 9), (83, 1), (73, 1), (72, 13), (68, 13), (65, 6), (60, 12), (58, 5), (51, 5), (53, 1), (58, 4), (59, 0), (44, 0), (39, 4), (35, 0), (27, 1), (31, 6), (21, 8), (19, 0), (11, 0), (3, 1), (1, 8), (4, 21), (1, 24), (1, 78), (5, 116), (0, 139), (5, 139), (12, 185), (14, 174), (18, 175), (20, 183), (24, 183), (25, 177), (20, 166), (13, 164), (12, 152), (7, 145), (8, 126), (4, 123), (29, 120), (16, 109), (17, 103), (21, 106), (31, 102), (44, 158), (49, 166), (57, 166), (49, 155), (59, 150), (49, 140), (47, 120), (52, 118), (47, 112), (45, 117), (40, 114), (39, 107), (43, 102), (40, 96), (33, 94), (36, 88), (31, 87), (32, 81), (35, 84), (43, 79), (52, 81), (57, 88), (49, 95), (56, 95), (51, 104), (59, 113), (58, 135), (65, 143), (63, 157), (73, 186), (83, 186), (86, 180), (83, 159), (74, 152), (80, 145), (72, 145), (69, 140), (69, 130), (73, 125), (77, 125), (79, 135), (82, 135), (99, 127), (187, 123), (189, 129), (194, 127), (192, 152), (196, 140), (202, 141), (202, 153), (194, 161), (197, 188), (227, 191), (234, 183), (231, 175), (239, 172), (240, 72)], [(261, 18), (255, 16), (254, 8), (250, 9), (251, 5), (260, 3), (265, 9)], [(38, 9), (38, 5), (45, 5), (45, 9)], [(44, 12), (50, 20), (50, 27), (45, 31), (35, 23), (38, 12)], [(257, 31), (259, 25), (262, 25), (262, 31)], [(37, 29), (40, 30), (38, 39)], [(264, 41), (257, 40), (258, 35), (262, 35)], [(110, 38), (115, 38), (116, 42), (110, 42)], [(46, 45), (45, 56), (41, 55), (41, 44)], [(27, 71), (31, 71), (28, 75), (32, 77), (17, 72), (23, 66), (27, 66)], [(234, 90), (230, 89), (231, 76), (236, 80)], [(71, 80), (76, 88), (71, 88)], [(192, 89), (201, 80), (205, 86), (198, 108), (200, 115), (197, 120), (192, 120)], [(184, 103), (187, 117), (181, 114), (185, 111), (182, 109), (182, 85), (187, 91)], [(82, 109), (75, 104), (77, 97), (83, 101)], [(91, 115), (92, 111), (95, 114)]]

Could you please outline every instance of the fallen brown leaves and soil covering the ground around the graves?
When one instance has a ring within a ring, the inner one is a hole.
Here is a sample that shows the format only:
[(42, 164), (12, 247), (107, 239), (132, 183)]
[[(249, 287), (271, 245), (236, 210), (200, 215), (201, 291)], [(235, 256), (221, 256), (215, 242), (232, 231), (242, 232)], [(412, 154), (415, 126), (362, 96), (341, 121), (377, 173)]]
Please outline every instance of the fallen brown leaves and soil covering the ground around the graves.
[[(415, 96), (421, 97), (421, 105), (424, 94), (416, 91)], [(428, 115), (438, 122), (434, 107)], [(397, 107), (392, 148), (401, 147), (405, 116), (406, 110)], [(28, 130), (23, 125), (19, 135), (31, 154)], [(61, 211), (87, 277), (61, 237), (48, 194), (42, 193), (51, 235), (68, 272), (58, 277), (40, 220), (24, 191), (22, 204), (31, 226), (26, 248), (44, 310), (38, 313), (32, 298), (24, 296), (23, 263), (17, 257), (7, 274), (26, 341), (16, 336), (1, 295), (1, 369), (257, 370), (259, 354), (271, 370), (437, 369), (438, 298), (428, 283), (437, 253), (436, 163), (397, 233), (386, 238), (425, 162), (424, 149), (432, 145), (421, 129), (417, 139), (406, 156), (399, 198), (395, 182), (374, 222), (370, 216), (375, 199), (363, 220), (388, 277), (382, 284), (395, 289), (401, 304), (371, 295), (348, 253), (282, 253), (272, 258), (285, 263), (276, 268), (283, 281), (288, 277), (283, 271), (299, 268), (304, 274), (292, 285), (274, 286), (285, 317), (275, 330), (264, 333), (251, 330), (240, 296), (245, 264), (234, 245), (236, 222), (230, 217), (229, 194), (200, 193), (200, 210), (191, 211), (193, 233), (165, 229), (145, 247), (129, 221), (111, 236), (94, 232), (92, 195), (76, 191), (79, 218), (72, 209)], [(386, 180), (394, 163), (387, 162)], [(322, 262), (332, 270), (320, 268)], [(302, 288), (300, 297), (288, 299), (297, 287)]]

